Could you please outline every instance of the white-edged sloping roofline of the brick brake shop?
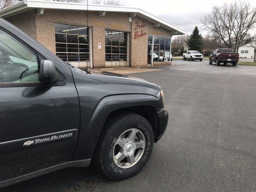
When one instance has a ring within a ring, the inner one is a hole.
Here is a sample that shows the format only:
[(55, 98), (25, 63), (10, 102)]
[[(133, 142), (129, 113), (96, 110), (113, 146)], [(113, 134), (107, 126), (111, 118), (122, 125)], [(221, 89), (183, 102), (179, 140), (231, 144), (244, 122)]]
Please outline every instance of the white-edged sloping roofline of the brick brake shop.
[[(12, 15), (26, 12), (32, 9), (55, 9), (55, 10), (78, 10), (86, 11), (87, 4), (85, 3), (74, 3), (74, 2), (59, 2), (59, 1), (47, 1), (47, 0), (24, 0), (15, 5), (7, 7), (0, 11), (0, 17), (7, 18)], [(157, 16), (154, 16), (146, 11), (139, 8), (123, 7), (123, 6), (112, 6), (112, 5), (96, 5), (89, 4), (88, 11), (103, 11), (103, 12), (129, 12), (136, 13), (136, 15), (154, 23), (159, 26), (166, 28), (173, 32), (172, 35), (185, 35), (187, 31), (182, 28), (171, 24)]]

